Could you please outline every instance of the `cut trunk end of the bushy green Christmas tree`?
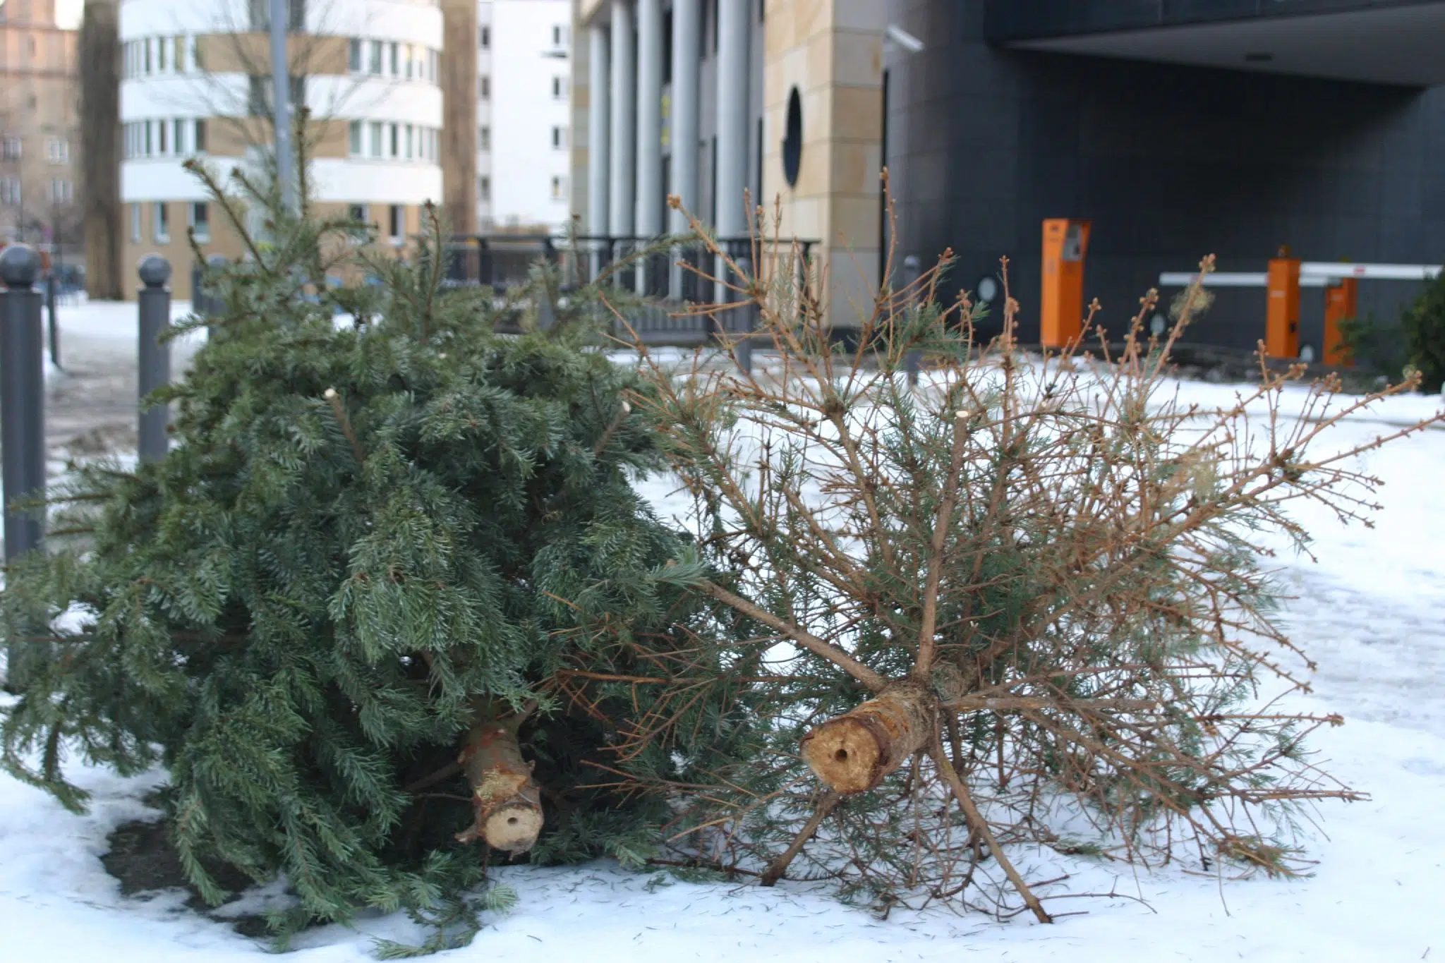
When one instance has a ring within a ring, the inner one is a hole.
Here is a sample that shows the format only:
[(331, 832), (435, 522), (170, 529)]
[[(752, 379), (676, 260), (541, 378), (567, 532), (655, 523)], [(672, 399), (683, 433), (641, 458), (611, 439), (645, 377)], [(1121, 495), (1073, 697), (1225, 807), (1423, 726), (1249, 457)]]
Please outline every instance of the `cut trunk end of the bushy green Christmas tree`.
[(493, 849), (517, 856), (532, 849), (542, 832), (542, 790), (532, 764), (517, 745), (520, 719), (477, 722), (457, 762), (471, 785), (477, 820), (457, 840), (483, 839)]

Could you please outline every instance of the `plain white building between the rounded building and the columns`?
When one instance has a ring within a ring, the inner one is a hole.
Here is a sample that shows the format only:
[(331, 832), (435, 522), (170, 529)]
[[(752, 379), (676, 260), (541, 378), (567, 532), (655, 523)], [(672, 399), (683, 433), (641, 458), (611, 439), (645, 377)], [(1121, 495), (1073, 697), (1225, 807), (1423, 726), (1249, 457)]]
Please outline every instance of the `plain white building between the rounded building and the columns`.
[(477, 224), (562, 231), (571, 150), (571, 0), (477, 3)]

